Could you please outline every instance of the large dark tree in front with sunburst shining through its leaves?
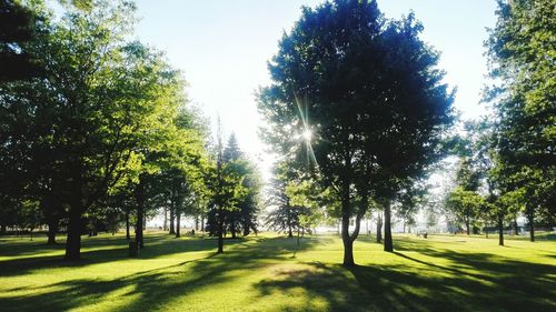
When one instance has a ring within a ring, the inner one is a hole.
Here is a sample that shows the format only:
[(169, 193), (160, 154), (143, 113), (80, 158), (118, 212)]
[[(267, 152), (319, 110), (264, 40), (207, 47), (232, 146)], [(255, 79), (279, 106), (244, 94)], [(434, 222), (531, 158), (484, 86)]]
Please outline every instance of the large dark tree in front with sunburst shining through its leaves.
[[(331, 188), (341, 202), (344, 264), (348, 266), (355, 264), (353, 244), (357, 234), (349, 232), (349, 220), (358, 214), (353, 200), (361, 165), (363, 138), (356, 135), (356, 110), (367, 101), (358, 91), (376, 77), (375, 41), (381, 24), (375, 1), (305, 7), (269, 64), (272, 84), (259, 95), (260, 111), (271, 125), (265, 132), (267, 139), (281, 149), (279, 152), (315, 160), (321, 175), (317, 181)], [(291, 131), (315, 144), (299, 145)]]

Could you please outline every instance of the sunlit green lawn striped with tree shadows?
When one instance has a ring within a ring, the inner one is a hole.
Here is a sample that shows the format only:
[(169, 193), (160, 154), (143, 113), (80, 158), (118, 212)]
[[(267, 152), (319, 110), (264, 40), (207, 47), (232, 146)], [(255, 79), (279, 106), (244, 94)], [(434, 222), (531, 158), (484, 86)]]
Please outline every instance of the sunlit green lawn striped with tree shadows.
[(344, 269), (335, 235), (216, 241), (148, 233), (139, 259), (121, 234), (63, 244), (0, 238), (0, 311), (556, 311), (556, 241), (495, 235), (369, 236)]

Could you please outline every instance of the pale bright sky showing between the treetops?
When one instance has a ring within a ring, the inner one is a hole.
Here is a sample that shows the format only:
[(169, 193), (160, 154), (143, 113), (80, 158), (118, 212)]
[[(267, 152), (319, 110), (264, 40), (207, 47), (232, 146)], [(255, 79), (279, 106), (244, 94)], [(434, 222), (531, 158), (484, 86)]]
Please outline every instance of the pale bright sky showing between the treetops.
[[(258, 138), (261, 120), (254, 92), (269, 82), (267, 61), (277, 52), (301, 6), (317, 0), (138, 0), (137, 36), (167, 53), (185, 72), (188, 94), (212, 122), (220, 115), (225, 133), (234, 131), (240, 148), (269, 178), (270, 159)], [(483, 56), (486, 27), (495, 24), (495, 0), (378, 0), (387, 18), (415, 11), (423, 38), (441, 52), (446, 81), (457, 87), (456, 107), (464, 118), (484, 112)]]

